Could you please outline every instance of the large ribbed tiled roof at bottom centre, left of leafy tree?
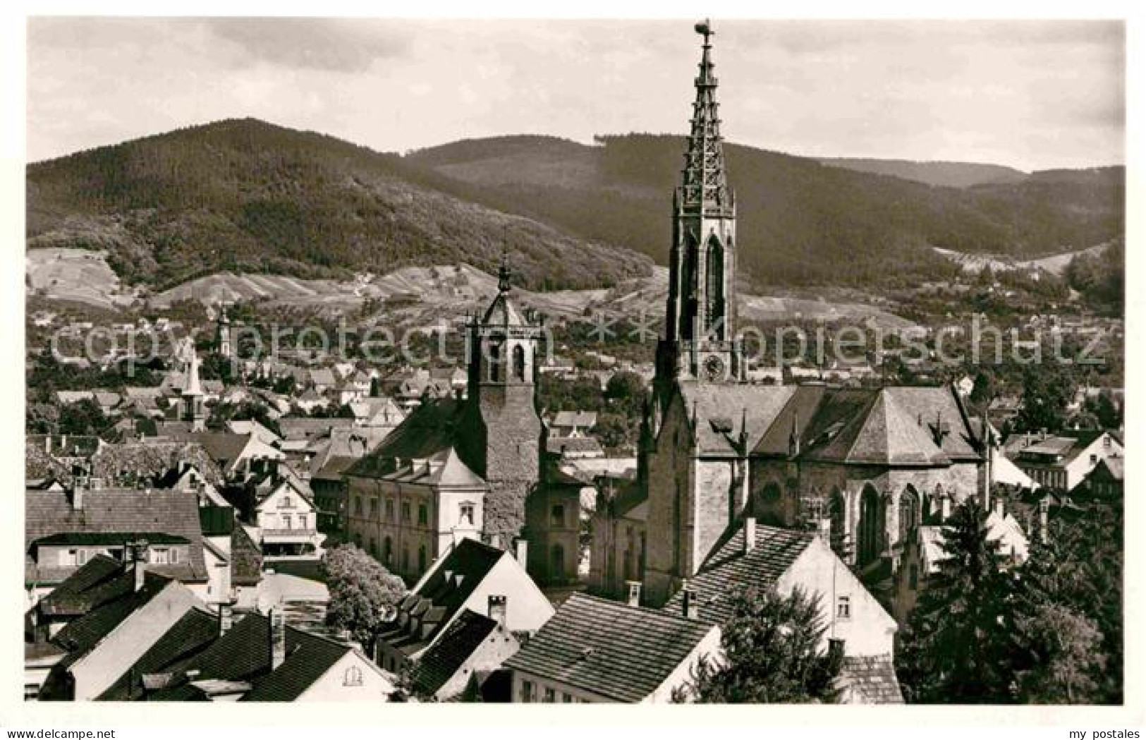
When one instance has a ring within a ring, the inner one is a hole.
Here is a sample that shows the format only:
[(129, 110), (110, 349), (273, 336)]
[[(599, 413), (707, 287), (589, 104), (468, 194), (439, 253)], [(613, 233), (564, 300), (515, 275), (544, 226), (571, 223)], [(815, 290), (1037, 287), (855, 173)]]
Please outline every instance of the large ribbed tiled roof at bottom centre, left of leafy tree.
[(613, 701), (656, 691), (713, 624), (574, 593), (505, 667)]

